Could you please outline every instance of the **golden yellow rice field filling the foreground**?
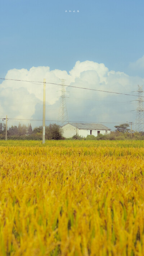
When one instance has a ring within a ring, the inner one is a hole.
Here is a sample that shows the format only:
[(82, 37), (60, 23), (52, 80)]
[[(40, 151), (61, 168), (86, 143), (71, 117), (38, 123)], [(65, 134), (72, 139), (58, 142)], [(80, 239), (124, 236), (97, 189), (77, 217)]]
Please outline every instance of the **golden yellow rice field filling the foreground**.
[(0, 141), (0, 256), (144, 256), (143, 141)]

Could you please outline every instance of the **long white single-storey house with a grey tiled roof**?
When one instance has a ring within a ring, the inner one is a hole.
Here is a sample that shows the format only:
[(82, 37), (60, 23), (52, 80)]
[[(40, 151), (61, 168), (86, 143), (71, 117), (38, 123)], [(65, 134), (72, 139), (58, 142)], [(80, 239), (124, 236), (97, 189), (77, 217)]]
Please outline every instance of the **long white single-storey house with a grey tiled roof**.
[(111, 129), (100, 123), (67, 123), (62, 127), (63, 136), (71, 138), (73, 135), (86, 137), (87, 135), (109, 134)]

